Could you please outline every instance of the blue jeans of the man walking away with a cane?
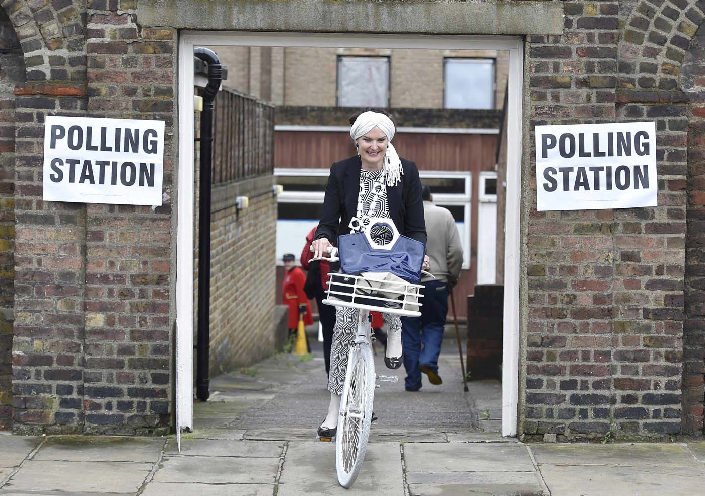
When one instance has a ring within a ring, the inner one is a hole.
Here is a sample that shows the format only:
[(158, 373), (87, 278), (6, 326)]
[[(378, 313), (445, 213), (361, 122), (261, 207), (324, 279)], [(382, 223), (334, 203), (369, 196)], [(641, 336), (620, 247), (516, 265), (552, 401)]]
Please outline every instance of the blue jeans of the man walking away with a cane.
[(421, 387), (421, 366), (438, 372), (443, 327), (448, 314), (448, 283), (431, 280), (424, 284), (426, 287), (421, 290), (424, 295), (421, 299), (421, 316), (401, 318), (401, 340), (407, 373), (405, 386), (409, 390)]

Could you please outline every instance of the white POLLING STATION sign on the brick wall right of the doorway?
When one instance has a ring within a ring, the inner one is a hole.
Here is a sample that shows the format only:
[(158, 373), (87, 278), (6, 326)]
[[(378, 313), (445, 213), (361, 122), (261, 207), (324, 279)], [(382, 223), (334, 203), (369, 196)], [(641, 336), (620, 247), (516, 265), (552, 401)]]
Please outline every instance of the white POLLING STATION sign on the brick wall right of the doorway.
[(537, 209), (656, 206), (656, 123), (536, 127)]

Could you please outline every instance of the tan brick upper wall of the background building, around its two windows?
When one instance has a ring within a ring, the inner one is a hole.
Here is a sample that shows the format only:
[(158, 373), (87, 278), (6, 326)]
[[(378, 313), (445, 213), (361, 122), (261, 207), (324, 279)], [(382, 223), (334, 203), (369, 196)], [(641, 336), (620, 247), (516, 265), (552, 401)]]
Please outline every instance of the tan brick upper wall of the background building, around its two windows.
[[(299, 46), (211, 46), (228, 67), (228, 86), (279, 106), (335, 107), (339, 56), (388, 57), (391, 109), (443, 109), (443, 61), (494, 61), (494, 108), (501, 109), (509, 57), (496, 50), (345, 49)], [(309, 70), (315, 63), (317, 70)], [(286, 82), (286, 84), (285, 84)]]

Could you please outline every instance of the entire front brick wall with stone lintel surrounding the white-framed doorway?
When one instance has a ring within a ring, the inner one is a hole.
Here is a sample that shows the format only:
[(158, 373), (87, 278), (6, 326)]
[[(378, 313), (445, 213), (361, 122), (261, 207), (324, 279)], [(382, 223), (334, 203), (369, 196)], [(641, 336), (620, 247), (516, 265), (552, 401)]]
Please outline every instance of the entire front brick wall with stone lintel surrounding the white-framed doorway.
[[(25, 66), (12, 96), (13, 76), (0, 72), (0, 112), (15, 109), (14, 134), (0, 131), (15, 152), (1, 159), (15, 218), (15, 432), (171, 426), (178, 29), (230, 28), (526, 35), (518, 433), (703, 435), (701, 1), (202, 4), (0, 2)], [(562, 29), (531, 17), (558, 9)], [(165, 120), (171, 199), (154, 211), (42, 202), (48, 113)], [(658, 207), (536, 211), (534, 125), (629, 120), (657, 123)]]

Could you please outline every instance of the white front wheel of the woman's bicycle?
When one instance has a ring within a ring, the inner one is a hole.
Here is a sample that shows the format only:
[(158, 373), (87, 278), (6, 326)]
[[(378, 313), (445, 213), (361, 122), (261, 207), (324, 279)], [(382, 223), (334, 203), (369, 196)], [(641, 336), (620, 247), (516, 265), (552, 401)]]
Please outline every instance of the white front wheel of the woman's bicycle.
[(348, 356), (336, 437), (336, 470), (343, 488), (353, 485), (362, 468), (372, 423), (375, 383), (372, 348), (369, 343), (353, 345)]

